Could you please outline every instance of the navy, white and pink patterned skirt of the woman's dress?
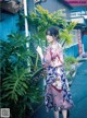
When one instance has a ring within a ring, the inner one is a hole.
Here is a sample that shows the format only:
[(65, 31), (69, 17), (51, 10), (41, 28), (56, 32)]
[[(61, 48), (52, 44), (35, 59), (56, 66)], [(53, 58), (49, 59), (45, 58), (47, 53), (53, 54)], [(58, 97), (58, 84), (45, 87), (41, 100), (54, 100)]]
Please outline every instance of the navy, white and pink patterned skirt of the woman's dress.
[[(61, 81), (60, 88), (53, 86), (53, 83), (58, 79)], [(70, 109), (73, 106), (72, 95), (63, 66), (47, 68), (45, 104), (47, 111), (51, 108), (54, 110)]]

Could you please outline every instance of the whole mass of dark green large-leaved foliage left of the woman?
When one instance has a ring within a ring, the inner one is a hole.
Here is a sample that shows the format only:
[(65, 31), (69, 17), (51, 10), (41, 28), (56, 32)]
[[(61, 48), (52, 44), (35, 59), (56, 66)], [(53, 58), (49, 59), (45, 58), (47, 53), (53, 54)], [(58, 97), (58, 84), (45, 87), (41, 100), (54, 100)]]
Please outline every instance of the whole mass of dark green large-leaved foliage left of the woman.
[[(39, 80), (42, 78), (42, 68), (37, 54), (33, 49), (26, 49), (26, 43), (30, 43), (22, 34), (12, 34), (7, 42), (1, 40), (1, 107), (11, 108), (12, 118), (24, 118), (32, 115), (34, 105), (40, 104), (42, 90)], [(29, 67), (27, 64), (29, 62)], [(39, 64), (38, 64), (39, 62)], [(39, 74), (40, 73), (40, 74)], [(14, 110), (17, 109), (17, 110)]]

